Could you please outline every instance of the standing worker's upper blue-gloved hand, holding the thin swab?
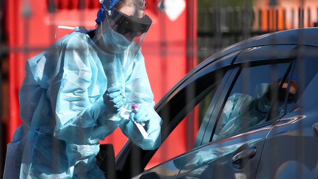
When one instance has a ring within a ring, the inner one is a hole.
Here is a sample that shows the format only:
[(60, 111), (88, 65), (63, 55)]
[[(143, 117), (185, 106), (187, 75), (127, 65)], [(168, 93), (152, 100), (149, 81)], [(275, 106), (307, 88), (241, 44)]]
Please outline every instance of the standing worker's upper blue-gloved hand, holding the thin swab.
[(125, 104), (127, 98), (119, 86), (110, 87), (103, 95), (104, 103), (110, 112), (118, 112)]

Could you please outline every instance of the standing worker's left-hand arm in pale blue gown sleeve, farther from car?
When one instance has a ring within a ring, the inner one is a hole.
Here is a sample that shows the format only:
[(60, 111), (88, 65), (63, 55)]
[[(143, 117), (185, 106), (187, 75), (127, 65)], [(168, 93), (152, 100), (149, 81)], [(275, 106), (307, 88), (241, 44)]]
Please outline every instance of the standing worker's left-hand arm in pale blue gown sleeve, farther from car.
[(85, 41), (71, 38), (61, 63), (63, 72), (59, 75), (62, 76), (57, 78), (61, 80), (53, 81), (50, 87), (56, 121), (54, 136), (74, 144), (86, 144), (96, 119), (107, 110), (103, 100), (92, 101), (89, 97), (93, 75), (89, 53)]

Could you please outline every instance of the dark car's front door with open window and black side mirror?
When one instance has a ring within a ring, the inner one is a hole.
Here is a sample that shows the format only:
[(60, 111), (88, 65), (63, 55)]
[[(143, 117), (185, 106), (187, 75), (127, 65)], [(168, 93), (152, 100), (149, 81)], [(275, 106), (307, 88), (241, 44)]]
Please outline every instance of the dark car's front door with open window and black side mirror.
[[(196, 73), (190, 73), (190, 76), (186, 76), (180, 84), (168, 92), (168, 95), (163, 97), (156, 109), (163, 120), (162, 145), (158, 150), (144, 151), (131, 142), (126, 143), (116, 157), (117, 178), (131, 178), (144, 170), (147, 171), (136, 178), (175, 179), (177, 177), (181, 167), (174, 166), (174, 158), (192, 150), (193, 146), (202, 144), (204, 131), (216, 101), (233, 71), (228, 69), (228, 66), (238, 53), (228, 54), (202, 67)], [(193, 127), (194, 120), (199, 122), (199, 129), (189, 132), (188, 129)], [(171, 141), (169, 137), (174, 136), (184, 122), (187, 123), (185, 136), (177, 135), (180, 138)], [(194, 136), (193, 140), (191, 136)], [(183, 146), (184, 140), (190, 147)], [(165, 145), (167, 142), (172, 142), (174, 145)]]

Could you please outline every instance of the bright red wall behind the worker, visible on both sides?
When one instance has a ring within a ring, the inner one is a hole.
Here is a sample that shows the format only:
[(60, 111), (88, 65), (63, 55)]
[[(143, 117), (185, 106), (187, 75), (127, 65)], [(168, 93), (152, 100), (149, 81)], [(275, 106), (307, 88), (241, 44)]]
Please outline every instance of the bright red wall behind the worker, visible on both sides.
[[(6, 1), (6, 31), (11, 47), (9, 53), (10, 112), (7, 142), (12, 140), (15, 129), (22, 123), (19, 117), (18, 92), (25, 75), (26, 60), (71, 32), (59, 29), (57, 38), (54, 38), (58, 25), (84, 25), (87, 29), (94, 28), (96, 12), (99, 8), (98, 0), (86, 0), (85, 10), (77, 8), (78, 0), (55, 0), (58, 4), (58, 10), (56, 13), (48, 13), (47, 0), (28, 1), (31, 10), (29, 18), (22, 16), (23, 11), (25, 11), (25, 4), (23, 5), (25, 0)], [(158, 102), (187, 73), (189, 64), (190, 66), (195, 64), (195, 58), (186, 57), (186, 40), (187, 38), (196, 39), (196, 3), (191, 4), (191, 7), (187, 6), (174, 22), (159, 11), (158, 2), (152, 0), (148, 3), (146, 13), (153, 20), (153, 24), (142, 45), (142, 52), (155, 95), (155, 102)], [(188, 5), (188, 2), (186, 4)], [(187, 8), (194, 9), (191, 11), (193, 13), (192, 19), (189, 19), (189, 14), (186, 13)], [(180, 134), (174, 136), (175, 139), (184, 138), (184, 134), (186, 134), (185, 124), (179, 127)], [(113, 143), (115, 154), (117, 154), (126, 140), (127, 138), (117, 129), (101, 143)], [(185, 146), (185, 141), (181, 145)]]

